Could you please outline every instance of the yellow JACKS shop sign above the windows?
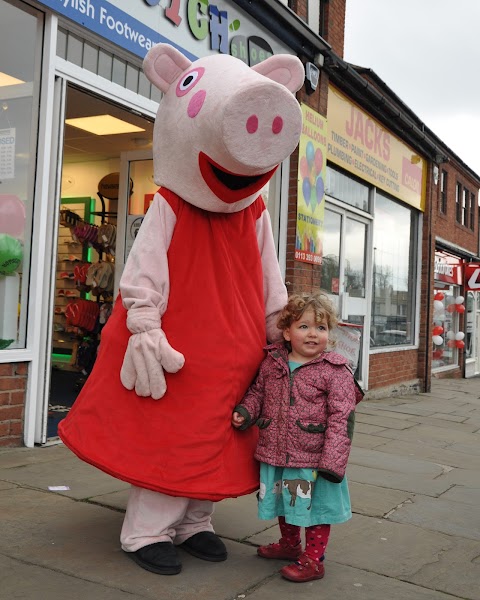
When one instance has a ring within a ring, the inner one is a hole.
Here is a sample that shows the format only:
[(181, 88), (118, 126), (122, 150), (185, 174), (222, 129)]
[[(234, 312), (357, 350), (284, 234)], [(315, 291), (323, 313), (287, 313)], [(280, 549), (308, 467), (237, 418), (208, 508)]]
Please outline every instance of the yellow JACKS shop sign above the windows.
[(331, 85), (327, 118), (329, 161), (425, 210), (426, 163), (418, 154)]

